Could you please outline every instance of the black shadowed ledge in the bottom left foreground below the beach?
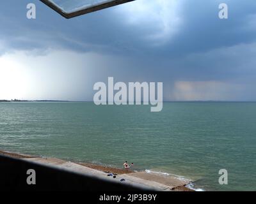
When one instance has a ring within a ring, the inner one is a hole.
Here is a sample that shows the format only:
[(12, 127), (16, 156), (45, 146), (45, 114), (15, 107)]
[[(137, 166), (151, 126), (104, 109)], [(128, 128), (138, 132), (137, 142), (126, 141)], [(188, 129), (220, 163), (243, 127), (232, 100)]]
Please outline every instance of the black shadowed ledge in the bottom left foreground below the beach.
[[(36, 171), (36, 184), (28, 185), (27, 171)], [(0, 156), (1, 191), (145, 191), (139, 186), (74, 173), (24, 159)]]

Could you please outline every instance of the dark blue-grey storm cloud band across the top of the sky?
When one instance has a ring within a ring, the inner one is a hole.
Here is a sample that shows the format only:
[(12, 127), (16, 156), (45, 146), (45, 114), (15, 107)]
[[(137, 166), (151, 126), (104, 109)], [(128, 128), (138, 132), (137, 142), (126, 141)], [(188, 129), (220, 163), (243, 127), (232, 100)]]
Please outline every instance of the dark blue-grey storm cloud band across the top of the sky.
[[(31, 2), (37, 6), (36, 20), (26, 19), (26, 5)], [(141, 25), (127, 25), (124, 16), (113, 12), (116, 8), (66, 20), (35, 0), (1, 2), (4, 10), (1, 11), (0, 36), (7, 41), (10, 48), (59, 46), (81, 52), (95, 49), (175, 58), (255, 41), (255, 27), (250, 27), (250, 22), (255, 20), (255, 1), (227, 1), (228, 20), (218, 18), (218, 5), (223, 1), (181, 2), (178, 15), (182, 18), (182, 24), (178, 33), (171, 40), (156, 47), (150, 46), (154, 40), (143, 40), (143, 36), (159, 29), (147, 20)]]

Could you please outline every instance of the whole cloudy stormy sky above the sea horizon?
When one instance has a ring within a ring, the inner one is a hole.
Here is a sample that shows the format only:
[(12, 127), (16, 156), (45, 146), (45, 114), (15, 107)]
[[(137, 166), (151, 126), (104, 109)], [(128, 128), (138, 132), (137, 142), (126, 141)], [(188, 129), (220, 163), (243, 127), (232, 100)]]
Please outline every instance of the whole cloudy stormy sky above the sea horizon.
[(114, 77), (163, 82), (164, 101), (256, 101), (255, 0), (136, 0), (68, 20), (38, 0), (0, 8), (0, 99), (92, 101)]

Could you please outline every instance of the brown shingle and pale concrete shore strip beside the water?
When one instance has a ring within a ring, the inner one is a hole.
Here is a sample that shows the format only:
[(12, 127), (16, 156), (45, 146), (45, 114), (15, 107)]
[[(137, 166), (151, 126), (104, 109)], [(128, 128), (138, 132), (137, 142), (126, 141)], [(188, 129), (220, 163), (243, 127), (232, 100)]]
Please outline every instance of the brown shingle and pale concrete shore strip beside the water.
[(129, 180), (132, 183), (138, 183), (148, 187), (156, 187), (156, 189), (161, 189), (163, 191), (193, 191), (186, 187), (189, 183), (188, 181), (182, 181), (175, 177), (170, 177), (166, 175), (159, 175), (156, 173), (147, 173), (145, 171), (132, 171), (119, 168), (113, 168), (110, 166), (100, 166), (97, 164), (89, 163), (76, 163), (70, 161), (64, 161), (57, 158), (45, 158), (39, 156), (31, 156), (26, 154), (18, 154), (14, 152), (7, 152), (0, 150), (0, 155), (10, 156), (17, 159), (26, 159), (28, 161), (33, 161), (37, 163), (51, 164), (54, 166), (64, 166), (68, 170), (79, 171), (80, 173), (92, 173), (92, 175), (99, 175), (101, 177), (106, 177), (109, 173), (112, 173), (118, 177), (125, 180)]

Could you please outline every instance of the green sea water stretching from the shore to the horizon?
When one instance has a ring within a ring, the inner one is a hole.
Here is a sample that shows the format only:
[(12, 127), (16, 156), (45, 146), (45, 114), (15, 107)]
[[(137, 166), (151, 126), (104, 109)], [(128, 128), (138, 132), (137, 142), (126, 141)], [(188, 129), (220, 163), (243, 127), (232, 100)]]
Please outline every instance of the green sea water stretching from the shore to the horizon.
[[(256, 191), (256, 103), (0, 103), (0, 149), (151, 170), (213, 191)], [(220, 169), (228, 185), (218, 183)]]

